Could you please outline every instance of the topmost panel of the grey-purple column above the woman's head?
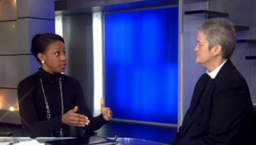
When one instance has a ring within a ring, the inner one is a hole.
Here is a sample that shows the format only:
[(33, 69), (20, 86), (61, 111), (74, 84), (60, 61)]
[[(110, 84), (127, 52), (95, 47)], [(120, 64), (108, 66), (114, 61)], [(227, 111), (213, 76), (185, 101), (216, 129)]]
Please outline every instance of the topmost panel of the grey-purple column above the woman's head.
[[(18, 18), (34, 17), (44, 19), (54, 19), (54, 1), (34, 1), (22, 0), (17, 2), (19, 11), (17, 12)], [(42, 8), (43, 7), (43, 8)]]

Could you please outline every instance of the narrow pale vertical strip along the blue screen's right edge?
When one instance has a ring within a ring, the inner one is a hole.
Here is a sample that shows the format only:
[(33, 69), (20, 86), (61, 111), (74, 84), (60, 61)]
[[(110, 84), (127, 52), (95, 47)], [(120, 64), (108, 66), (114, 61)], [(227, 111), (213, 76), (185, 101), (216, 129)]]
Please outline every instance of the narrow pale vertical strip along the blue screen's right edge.
[(178, 92), (178, 129), (183, 121), (183, 60), (184, 60), (184, 46), (183, 46), (183, 17), (184, 17), (184, 0), (179, 0), (179, 92)]

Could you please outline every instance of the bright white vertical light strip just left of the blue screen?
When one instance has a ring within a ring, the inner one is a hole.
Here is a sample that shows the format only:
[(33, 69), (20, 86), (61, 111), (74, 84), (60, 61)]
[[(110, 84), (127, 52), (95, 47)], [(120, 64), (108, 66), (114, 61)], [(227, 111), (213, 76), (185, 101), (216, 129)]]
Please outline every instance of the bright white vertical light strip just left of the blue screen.
[(100, 99), (103, 97), (103, 64), (102, 64), (102, 12), (93, 13), (93, 70), (94, 70), (94, 97), (93, 116), (101, 113)]

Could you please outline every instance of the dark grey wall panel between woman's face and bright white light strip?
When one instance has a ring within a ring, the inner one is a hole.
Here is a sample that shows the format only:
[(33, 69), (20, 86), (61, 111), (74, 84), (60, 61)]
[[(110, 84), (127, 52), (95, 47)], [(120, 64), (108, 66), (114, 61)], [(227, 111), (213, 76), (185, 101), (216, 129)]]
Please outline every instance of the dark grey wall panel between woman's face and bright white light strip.
[(86, 104), (93, 111), (93, 33), (92, 14), (63, 18), (67, 50), (65, 74), (78, 79), (84, 91)]

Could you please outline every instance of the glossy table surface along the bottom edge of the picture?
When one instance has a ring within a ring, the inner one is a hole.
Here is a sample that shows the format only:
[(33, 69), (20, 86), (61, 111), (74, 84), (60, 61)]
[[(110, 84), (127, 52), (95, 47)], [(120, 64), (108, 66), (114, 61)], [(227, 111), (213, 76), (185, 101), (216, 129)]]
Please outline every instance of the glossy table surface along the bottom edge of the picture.
[[(43, 143), (49, 140), (59, 140), (60, 138), (36, 138), (38, 142)], [(70, 138), (61, 138), (61, 139), (70, 139)], [(114, 139), (114, 138), (108, 138)], [(118, 138), (120, 145), (167, 145), (164, 143), (151, 142), (150, 140), (136, 139), (136, 138)], [(0, 143), (3, 142), (15, 142), (15, 141), (26, 141), (32, 140), (31, 138), (26, 137), (1, 137)], [(29, 145), (29, 144), (28, 144)]]

